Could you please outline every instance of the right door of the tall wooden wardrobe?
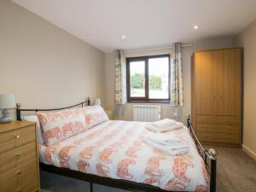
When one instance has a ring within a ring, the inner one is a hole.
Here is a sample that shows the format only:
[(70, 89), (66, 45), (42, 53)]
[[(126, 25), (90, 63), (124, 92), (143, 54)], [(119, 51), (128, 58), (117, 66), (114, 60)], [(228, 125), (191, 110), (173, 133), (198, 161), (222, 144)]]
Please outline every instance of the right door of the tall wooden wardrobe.
[(217, 58), (217, 115), (240, 116), (241, 49), (215, 50)]

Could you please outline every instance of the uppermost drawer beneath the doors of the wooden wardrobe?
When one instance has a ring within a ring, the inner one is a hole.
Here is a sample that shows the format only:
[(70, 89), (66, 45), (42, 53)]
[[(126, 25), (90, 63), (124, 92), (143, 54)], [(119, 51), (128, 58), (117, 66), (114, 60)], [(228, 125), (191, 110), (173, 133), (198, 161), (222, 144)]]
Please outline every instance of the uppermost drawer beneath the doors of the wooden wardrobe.
[(238, 116), (196, 115), (196, 124), (240, 125)]

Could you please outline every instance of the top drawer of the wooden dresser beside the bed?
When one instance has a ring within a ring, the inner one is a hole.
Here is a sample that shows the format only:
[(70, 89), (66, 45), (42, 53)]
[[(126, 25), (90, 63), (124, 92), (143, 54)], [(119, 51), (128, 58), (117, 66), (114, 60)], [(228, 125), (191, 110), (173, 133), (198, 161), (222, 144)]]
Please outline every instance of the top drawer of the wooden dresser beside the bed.
[(0, 134), (0, 153), (36, 141), (36, 126), (30, 125)]

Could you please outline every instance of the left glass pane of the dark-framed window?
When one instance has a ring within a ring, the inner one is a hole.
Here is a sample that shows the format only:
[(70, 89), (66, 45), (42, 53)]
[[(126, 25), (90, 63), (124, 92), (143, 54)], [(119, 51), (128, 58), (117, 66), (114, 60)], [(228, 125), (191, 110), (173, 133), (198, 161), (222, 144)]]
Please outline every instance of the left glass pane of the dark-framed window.
[(145, 96), (145, 61), (130, 62), (131, 97)]

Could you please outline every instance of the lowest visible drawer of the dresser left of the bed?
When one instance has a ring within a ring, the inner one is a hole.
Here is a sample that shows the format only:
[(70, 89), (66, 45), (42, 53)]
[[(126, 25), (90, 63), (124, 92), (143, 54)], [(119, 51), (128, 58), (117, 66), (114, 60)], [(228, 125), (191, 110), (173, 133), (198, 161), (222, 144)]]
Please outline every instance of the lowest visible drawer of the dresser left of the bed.
[(0, 174), (1, 192), (33, 192), (37, 189), (38, 166), (36, 158)]

